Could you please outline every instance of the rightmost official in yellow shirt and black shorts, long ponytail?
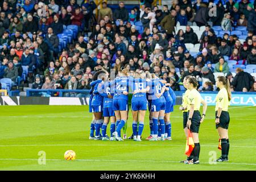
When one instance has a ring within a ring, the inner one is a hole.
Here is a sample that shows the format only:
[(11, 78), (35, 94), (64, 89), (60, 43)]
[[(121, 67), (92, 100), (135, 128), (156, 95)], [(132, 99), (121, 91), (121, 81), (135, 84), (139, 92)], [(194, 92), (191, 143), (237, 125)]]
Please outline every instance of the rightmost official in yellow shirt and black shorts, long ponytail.
[(218, 135), (221, 138), (221, 157), (216, 160), (216, 162), (227, 162), (229, 155), (229, 113), (228, 107), (231, 100), (231, 90), (229, 80), (224, 76), (218, 76), (216, 85), (220, 88), (216, 96), (216, 129), (218, 130)]

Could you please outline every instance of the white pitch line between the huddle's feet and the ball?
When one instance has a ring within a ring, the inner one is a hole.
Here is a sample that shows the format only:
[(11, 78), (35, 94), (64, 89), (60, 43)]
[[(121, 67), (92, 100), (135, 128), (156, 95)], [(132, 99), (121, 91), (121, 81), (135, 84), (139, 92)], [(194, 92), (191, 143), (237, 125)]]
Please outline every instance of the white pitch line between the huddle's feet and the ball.
[[(61, 146), (184, 146), (184, 144), (120, 144), (117, 142), (117, 144), (13, 144), (13, 145), (0, 145), (0, 147), (61, 147)], [(202, 147), (217, 147), (211, 146), (211, 145), (204, 145), (201, 144)], [(241, 148), (256, 148), (256, 146), (230, 146), (230, 147), (241, 147)]]

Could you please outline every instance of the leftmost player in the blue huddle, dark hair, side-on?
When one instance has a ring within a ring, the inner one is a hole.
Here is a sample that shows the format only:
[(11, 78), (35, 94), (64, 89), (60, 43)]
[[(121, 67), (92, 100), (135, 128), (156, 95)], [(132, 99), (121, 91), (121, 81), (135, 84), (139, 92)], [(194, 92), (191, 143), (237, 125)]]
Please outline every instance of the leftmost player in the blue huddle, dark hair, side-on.
[[(105, 71), (99, 71), (96, 72), (95, 75), (93, 76), (93, 81), (96, 80), (101, 80), (104, 81), (106, 79), (106, 72)], [(98, 88), (101, 88), (102, 82), (97, 82), (93, 86), (93, 98), (92, 98), (92, 112), (94, 114), (95, 118), (95, 128), (96, 128), (96, 133), (95, 133), (95, 140), (100, 140), (100, 129), (101, 129), (101, 123), (102, 123), (102, 111), (103, 111), (103, 97), (100, 96), (99, 93), (96, 91)]]

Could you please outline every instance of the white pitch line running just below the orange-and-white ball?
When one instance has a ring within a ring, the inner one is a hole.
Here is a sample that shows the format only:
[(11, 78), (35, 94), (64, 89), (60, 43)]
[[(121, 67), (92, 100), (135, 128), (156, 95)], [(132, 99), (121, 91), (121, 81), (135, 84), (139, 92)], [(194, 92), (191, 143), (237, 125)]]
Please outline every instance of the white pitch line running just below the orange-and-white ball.
[[(24, 160), (38, 160), (38, 159), (0, 159), (0, 160), (16, 160), (16, 161), (24, 161)], [(61, 161), (62, 159), (46, 159), (48, 161)], [(64, 159), (63, 159), (64, 160)], [(141, 162), (141, 163), (180, 163), (177, 161), (171, 161), (171, 160), (115, 160), (115, 159), (76, 159), (77, 161), (82, 162)], [(200, 162), (201, 164), (209, 164), (206, 162)], [(246, 166), (256, 166), (254, 163), (217, 163), (217, 164), (233, 164), (233, 165), (246, 165)]]

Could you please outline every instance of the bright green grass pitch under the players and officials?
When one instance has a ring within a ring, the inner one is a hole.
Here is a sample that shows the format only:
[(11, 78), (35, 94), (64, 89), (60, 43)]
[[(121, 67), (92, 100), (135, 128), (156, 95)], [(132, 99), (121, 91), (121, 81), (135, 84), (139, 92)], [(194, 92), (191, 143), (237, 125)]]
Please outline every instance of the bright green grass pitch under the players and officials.
[[(229, 162), (209, 164), (217, 149), (214, 107), (200, 127), (200, 164), (179, 163), (186, 158), (185, 137), (178, 106), (171, 114), (171, 141), (143, 142), (89, 140), (92, 114), (88, 106), (1, 106), (0, 170), (255, 170), (255, 107), (230, 108)], [(148, 114), (147, 114), (148, 116)], [(146, 118), (148, 118), (146, 116)], [(131, 135), (131, 115), (127, 135)], [(108, 127), (108, 135), (109, 127)], [(73, 150), (77, 160), (64, 160)], [(46, 164), (38, 164), (39, 151), (46, 152)]]

